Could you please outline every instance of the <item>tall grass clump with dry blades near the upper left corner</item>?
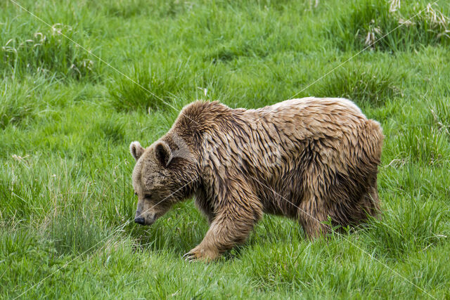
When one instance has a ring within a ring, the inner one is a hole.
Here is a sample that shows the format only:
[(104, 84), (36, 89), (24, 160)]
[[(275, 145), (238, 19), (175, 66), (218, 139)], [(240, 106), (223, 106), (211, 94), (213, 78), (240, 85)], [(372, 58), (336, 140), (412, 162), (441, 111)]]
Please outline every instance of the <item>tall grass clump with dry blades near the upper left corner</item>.
[[(0, 43), (0, 70), (4, 76), (43, 74), (58, 78), (95, 80), (94, 60), (70, 39), (82, 39), (70, 25), (53, 24), (39, 31), (21, 34), (15, 20), (4, 24)], [(45, 25), (44, 25), (45, 26)], [(32, 28), (30, 25), (27, 27)]]

